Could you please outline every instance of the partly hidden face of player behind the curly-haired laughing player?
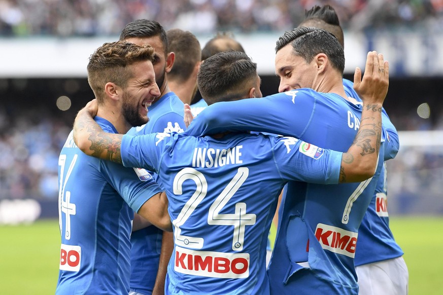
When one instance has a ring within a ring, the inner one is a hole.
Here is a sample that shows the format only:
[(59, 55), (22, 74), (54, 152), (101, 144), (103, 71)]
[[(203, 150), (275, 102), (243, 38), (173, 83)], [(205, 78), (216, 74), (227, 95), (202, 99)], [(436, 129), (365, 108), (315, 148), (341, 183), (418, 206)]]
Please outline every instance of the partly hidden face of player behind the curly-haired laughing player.
[(164, 52), (164, 46), (161, 42), (160, 36), (153, 36), (153, 37), (131, 37), (126, 39), (127, 42), (137, 44), (139, 46), (143, 46), (145, 44), (149, 44), (154, 48), (155, 51), (155, 61), (153, 62), (154, 65), (154, 71), (155, 71), (155, 79), (158, 87), (160, 89), (163, 89), (165, 79), (164, 79), (164, 73), (166, 71), (166, 54)]

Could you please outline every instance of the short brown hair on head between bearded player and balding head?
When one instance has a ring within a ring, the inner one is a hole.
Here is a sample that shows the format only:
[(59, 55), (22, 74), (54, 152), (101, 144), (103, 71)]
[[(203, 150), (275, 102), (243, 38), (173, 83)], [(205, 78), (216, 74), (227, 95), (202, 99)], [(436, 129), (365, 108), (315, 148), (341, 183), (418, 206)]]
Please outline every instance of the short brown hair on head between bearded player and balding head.
[(188, 80), (195, 65), (201, 60), (200, 43), (193, 33), (181, 29), (166, 32), (169, 50), (175, 53), (174, 67), (167, 74), (170, 80), (184, 82)]

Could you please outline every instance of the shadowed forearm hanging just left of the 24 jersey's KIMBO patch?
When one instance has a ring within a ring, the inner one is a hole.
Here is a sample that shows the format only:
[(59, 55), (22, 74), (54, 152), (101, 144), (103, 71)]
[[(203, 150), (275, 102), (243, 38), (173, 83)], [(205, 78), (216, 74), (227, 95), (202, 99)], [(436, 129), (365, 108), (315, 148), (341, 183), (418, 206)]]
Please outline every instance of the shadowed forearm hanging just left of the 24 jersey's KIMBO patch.
[(167, 264), (171, 259), (174, 250), (174, 235), (173, 233), (163, 232), (161, 240), (160, 262), (158, 264), (157, 277), (155, 279), (153, 295), (164, 294), (164, 281), (167, 273)]

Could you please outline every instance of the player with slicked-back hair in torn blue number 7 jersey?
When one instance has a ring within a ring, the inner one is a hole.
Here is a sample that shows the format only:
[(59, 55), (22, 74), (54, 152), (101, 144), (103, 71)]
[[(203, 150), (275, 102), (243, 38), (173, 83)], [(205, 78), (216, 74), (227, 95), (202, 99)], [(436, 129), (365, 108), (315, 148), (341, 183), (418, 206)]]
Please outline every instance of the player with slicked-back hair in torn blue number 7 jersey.
[[(343, 87), (343, 47), (325, 30), (301, 27), (281, 36), (276, 52), (280, 94), (209, 106), (186, 133), (265, 131), (344, 151), (359, 129), (361, 107), (348, 100)], [(374, 62), (374, 67), (381, 73), (386, 70), (383, 62)], [(361, 183), (288, 183), (268, 268), (272, 293), (358, 292), (357, 230), (380, 175), (383, 153), (376, 174)]]

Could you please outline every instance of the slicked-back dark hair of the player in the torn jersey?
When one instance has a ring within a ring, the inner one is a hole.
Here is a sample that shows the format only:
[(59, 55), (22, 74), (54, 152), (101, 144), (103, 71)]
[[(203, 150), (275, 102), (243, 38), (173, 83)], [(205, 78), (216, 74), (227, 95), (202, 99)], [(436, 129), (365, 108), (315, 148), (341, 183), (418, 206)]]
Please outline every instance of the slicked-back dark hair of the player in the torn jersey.
[(345, 53), (337, 38), (326, 30), (314, 27), (298, 27), (285, 32), (276, 43), (276, 52), (291, 44), (292, 53), (302, 57), (307, 63), (324, 53), (333, 68), (343, 74), (345, 70)]

